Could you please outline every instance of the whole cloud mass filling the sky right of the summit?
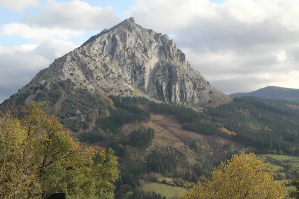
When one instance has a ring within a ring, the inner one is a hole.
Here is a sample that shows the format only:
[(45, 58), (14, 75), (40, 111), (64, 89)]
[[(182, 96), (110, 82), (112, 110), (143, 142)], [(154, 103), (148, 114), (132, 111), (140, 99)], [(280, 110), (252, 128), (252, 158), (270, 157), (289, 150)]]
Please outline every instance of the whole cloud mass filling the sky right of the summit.
[(299, 88), (298, 0), (137, 0), (136, 22), (171, 35), (191, 66), (226, 94)]

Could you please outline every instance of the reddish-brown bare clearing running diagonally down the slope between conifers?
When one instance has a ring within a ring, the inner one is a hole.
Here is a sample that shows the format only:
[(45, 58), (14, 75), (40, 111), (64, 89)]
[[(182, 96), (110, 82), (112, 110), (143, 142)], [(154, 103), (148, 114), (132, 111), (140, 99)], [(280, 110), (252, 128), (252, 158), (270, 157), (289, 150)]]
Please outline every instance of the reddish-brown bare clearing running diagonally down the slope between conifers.
[(153, 124), (155, 124), (159, 128), (164, 129), (170, 134), (170, 136), (174, 137), (177, 140), (183, 140), (189, 137), (192, 139), (196, 139), (208, 143), (214, 151), (214, 155), (212, 156), (212, 159), (214, 161), (223, 160), (223, 158), (225, 157), (224, 150), (223, 150), (224, 144), (231, 143), (233, 145), (233, 149), (245, 148), (242, 144), (238, 142), (234, 142), (219, 137), (217, 135), (202, 135), (192, 131), (184, 130), (182, 129), (182, 126), (176, 121), (176, 118), (172, 115), (151, 114), (151, 120)]

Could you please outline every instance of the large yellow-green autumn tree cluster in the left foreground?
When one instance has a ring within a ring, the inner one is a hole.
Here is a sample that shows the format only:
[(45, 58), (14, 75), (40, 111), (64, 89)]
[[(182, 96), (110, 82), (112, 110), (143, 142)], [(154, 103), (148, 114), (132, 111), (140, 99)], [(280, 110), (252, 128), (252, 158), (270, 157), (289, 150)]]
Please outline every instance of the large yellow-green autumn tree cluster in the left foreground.
[(0, 199), (112, 199), (119, 177), (112, 150), (74, 140), (42, 103), (26, 104), (18, 115), (0, 114)]

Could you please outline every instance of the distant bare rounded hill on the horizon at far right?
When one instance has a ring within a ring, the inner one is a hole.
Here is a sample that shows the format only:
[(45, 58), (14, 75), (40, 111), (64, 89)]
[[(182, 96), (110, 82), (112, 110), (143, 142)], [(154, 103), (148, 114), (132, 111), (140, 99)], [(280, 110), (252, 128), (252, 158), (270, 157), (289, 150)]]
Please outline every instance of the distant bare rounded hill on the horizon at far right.
[(229, 95), (231, 98), (240, 98), (243, 96), (253, 96), (264, 99), (290, 100), (299, 102), (299, 89), (289, 89), (283, 87), (265, 87), (250, 93), (235, 93)]

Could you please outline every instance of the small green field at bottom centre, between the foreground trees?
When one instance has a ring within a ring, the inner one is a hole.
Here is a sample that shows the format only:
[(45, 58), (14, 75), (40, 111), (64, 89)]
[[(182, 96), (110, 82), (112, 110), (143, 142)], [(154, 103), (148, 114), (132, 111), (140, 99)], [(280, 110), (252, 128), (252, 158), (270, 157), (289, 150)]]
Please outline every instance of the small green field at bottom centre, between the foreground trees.
[(151, 181), (146, 181), (145, 185), (142, 188), (144, 191), (153, 191), (162, 196), (165, 196), (166, 199), (175, 199), (180, 194), (183, 193), (181, 187), (172, 187), (170, 185), (165, 185), (161, 183), (154, 183)]

